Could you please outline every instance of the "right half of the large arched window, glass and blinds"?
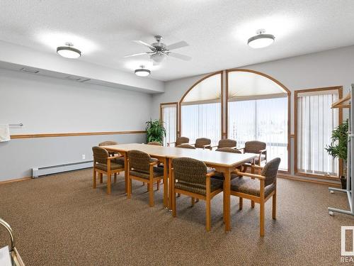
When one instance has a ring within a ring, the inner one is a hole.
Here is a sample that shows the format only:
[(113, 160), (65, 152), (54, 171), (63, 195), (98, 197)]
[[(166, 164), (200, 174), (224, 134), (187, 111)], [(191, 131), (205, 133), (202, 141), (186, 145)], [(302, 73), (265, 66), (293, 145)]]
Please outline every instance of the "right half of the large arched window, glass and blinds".
[(290, 92), (280, 82), (251, 70), (227, 71), (228, 138), (243, 148), (246, 141), (267, 144), (268, 160), (280, 157), (288, 170), (288, 102)]

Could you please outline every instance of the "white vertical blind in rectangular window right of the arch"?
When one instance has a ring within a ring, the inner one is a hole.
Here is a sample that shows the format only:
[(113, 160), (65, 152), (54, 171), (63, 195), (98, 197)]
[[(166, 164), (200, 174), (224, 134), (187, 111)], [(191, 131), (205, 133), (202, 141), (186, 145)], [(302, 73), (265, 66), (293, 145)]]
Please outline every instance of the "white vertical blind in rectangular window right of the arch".
[(338, 91), (309, 92), (297, 95), (297, 170), (312, 174), (338, 175), (338, 159), (325, 148), (338, 126), (338, 109), (331, 104)]

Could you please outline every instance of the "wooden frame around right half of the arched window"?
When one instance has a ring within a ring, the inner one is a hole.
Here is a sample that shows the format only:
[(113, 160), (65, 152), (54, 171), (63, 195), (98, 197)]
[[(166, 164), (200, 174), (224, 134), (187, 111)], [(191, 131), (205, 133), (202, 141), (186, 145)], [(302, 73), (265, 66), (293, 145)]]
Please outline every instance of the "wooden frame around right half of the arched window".
[(291, 126), (291, 92), (290, 89), (287, 89), (284, 84), (279, 82), (277, 79), (274, 79), (273, 77), (270, 77), (268, 74), (264, 74), (262, 72), (258, 72), (256, 70), (245, 70), (241, 68), (236, 68), (236, 69), (230, 69), (226, 70), (226, 112), (225, 112), (225, 118), (226, 118), (226, 138), (228, 137), (229, 134), (229, 72), (250, 72), (253, 74), (259, 74), (265, 78), (270, 79), (271, 81), (275, 82), (278, 84), (282, 89), (285, 90), (287, 93), (287, 171), (285, 170), (279, 170), (278, 172), (283, 173), (283, 174), (290, 174), (291, 173), (291, 150), (290, 150), (290, 126)]

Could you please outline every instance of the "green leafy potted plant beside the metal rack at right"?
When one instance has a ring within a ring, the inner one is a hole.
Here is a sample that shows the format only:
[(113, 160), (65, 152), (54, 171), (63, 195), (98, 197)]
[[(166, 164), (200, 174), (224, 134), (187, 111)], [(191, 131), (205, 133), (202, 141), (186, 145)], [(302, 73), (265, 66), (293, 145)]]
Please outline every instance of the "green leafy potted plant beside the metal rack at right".
[(348, 150), (348, 119), (332, 131), (331, 144), (326, 148), (327, 153), (334, 158), (343, 160), (342, 189), (346, 189), (346, 165)]

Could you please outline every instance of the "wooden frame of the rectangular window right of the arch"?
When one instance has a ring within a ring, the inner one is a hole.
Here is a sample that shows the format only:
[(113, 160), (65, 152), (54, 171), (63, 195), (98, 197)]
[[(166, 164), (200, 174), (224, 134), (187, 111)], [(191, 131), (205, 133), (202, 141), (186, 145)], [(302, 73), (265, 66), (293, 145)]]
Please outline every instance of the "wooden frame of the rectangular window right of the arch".
[[(319, 179), (329, 179), (329, 180), (338, 180), (341, 175), (343, 175), (343, 160), (339, 160), (338, 162), (338, 176), (333, 175), (326, 175), (326, 174), (314, 174), (314, 173), (307, 173), (301, 172), (297, 168), (297, 116), (298, 116), (298, 108), (297, 108), (297, 98), (298, 94), (306, 93), (306, 92), (326, 92), (326, 91), (333, 91), (338, 90), (338, 99), (343, 97), (343, 86), (333, 86), (333, 87), (321, 87), (321, 88), (314, 88), (314, 89), (297, 89), (294, 91), (294, 174), (301, 177), (312, 177), (312, 178), (319, 178)], [(338, 124), (343, 123), (343, 110), (338, 109)]]

